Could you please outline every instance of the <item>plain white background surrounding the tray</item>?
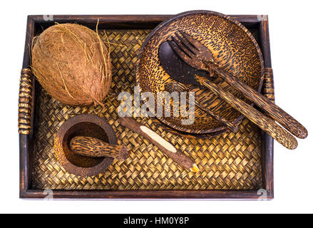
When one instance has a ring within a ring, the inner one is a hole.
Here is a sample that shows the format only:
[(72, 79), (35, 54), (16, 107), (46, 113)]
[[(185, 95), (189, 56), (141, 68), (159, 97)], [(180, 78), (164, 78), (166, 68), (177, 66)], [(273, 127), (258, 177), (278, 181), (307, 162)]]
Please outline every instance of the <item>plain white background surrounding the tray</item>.
[[(47, 3), (46, 3), (47, 2)], [(137, 2), (137, 4), (135, 4)], [(1, 3), (0, 212), (220, 213), (313, 212), (312, 4), (310, 1), (5, 1)], [(276, 103), (307, 127), (289, 151), (274, 143), (274, 200), (19, 199), (17, 105), (28, 14), (268, 14)]]

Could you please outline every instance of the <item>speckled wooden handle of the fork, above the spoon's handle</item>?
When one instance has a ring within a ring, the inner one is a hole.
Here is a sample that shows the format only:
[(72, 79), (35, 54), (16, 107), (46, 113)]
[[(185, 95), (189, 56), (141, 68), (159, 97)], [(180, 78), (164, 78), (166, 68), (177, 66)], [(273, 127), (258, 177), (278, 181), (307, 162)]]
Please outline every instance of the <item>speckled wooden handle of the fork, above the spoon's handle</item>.
[(240, 92), (245, 95), (245, 98), (251, 100), (257, 106), (262, 108), (262, 110), (265, 110), (267, 113), (269, 113), (269, 115), (274, 120), (289, 130), (290, 133), (297, 136), (298, 138), (307, 137), (307, 129), (304, 128), (303, 125), (301, 125), (291, 115), (282, 110), (282, 108), (279, 108), (277, 105), (272, 103), (272, 101), (266, 98), (264, 95), (258, 93), (254, 89), (250, 88), (250, 86), (247, 86), (245, 83), (242, 83), (242, 81), (220, 68), (215, 68), (215, 72), (225, 81), (227, 81), (227, 83), (230, 83), (231, 86), (237, 90), (240, 90)]

